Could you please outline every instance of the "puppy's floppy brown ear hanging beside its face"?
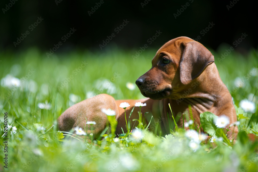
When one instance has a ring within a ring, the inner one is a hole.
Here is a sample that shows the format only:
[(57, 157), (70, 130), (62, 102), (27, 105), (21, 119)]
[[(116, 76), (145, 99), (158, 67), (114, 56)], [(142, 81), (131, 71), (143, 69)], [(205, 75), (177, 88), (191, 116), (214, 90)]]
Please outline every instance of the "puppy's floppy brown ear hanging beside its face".
[(180, 80), (184, 85), (200, 76), (204, 69), (214, 62), (214, 56), (196, 41), (181, 43), (183, 55), (180, 60)]

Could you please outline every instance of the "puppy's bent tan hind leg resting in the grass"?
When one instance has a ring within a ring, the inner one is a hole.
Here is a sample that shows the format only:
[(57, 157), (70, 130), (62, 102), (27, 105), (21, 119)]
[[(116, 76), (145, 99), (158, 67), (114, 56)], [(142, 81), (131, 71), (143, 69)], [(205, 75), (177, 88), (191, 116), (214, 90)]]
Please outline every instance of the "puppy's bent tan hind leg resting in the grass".
[(60, 131), (70, 131), (74, 127), (88, 129), (90, 134), (91, 126), (86, 124), (87, 121), (96, 122), (93, 125), (93, 134), (100, 134), (107, 124), (107, 116), (102, 112), (102, 109), (112, 109), (118, 114), (118, 107), (115, 99), (107, 94), (100, 94), (90, 99), (81, 101), (68, 108), (58, 118), (58, 127)]

